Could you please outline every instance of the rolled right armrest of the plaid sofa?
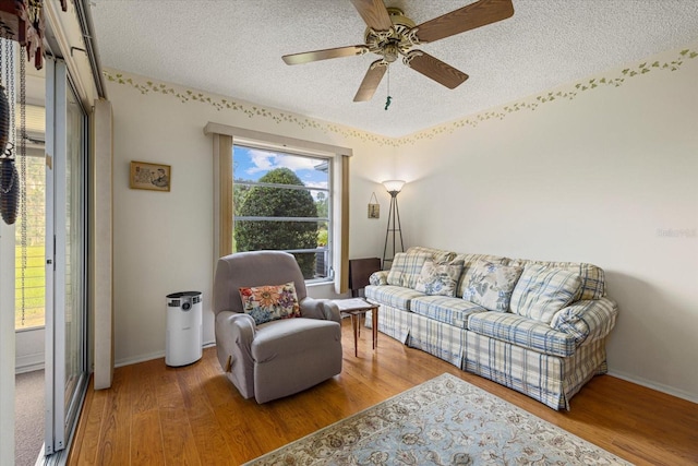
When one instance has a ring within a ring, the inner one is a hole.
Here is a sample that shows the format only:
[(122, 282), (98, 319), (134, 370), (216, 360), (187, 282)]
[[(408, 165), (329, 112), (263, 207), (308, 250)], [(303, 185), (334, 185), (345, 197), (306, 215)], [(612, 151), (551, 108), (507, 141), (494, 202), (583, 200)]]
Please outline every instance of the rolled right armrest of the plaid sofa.
[(617, 314), (617, 304), (610, 298), (581, 300), (557, 311), (550, 325), (574, 336), (579, 346), (605, 338)]

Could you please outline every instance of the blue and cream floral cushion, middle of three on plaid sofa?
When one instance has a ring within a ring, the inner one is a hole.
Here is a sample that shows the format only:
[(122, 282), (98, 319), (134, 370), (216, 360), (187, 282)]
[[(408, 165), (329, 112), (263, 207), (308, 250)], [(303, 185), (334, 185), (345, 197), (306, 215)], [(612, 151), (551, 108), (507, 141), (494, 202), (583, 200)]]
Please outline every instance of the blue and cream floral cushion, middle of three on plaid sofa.
[(462, 299), (480, 304), (490, 311), (507, 312), (512, 291), (521, 276), (524, 267), (478, 261)]

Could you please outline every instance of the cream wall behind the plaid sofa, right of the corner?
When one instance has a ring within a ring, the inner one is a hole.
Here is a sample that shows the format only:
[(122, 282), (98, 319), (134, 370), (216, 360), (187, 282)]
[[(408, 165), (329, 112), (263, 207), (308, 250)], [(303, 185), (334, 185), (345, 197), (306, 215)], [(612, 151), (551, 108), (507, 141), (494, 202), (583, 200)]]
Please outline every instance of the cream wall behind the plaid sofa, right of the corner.
[(685, 60), (407, 144), (408, 242), (601, 266), (619, 307), (611, 373), (698, 401), (696, 83)]

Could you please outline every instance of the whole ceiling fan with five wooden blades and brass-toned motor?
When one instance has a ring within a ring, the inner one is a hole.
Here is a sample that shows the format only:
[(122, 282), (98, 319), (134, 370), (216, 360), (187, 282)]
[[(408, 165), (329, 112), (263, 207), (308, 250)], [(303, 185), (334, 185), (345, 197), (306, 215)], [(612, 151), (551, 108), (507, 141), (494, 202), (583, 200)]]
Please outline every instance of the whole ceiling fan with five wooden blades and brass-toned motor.
[(387, 67), (399, 56), (402, 56), (402, 62), (409, 68), (448, 88), (456, 88), (468, 79), (466, 73), (413, 47), (496, 23), (514, 14), (512, 0), (479, 0), (414, 25), (401, 10), (386, 8), (383, 0), (351, 0), (351, 3), (368, 25), (365, 44), (285, 55), (281, 58), (287, 64), (301, 64), (366, 52), (381, 56), (381, 59), (369, 67), (353, 101), (370, 100)]

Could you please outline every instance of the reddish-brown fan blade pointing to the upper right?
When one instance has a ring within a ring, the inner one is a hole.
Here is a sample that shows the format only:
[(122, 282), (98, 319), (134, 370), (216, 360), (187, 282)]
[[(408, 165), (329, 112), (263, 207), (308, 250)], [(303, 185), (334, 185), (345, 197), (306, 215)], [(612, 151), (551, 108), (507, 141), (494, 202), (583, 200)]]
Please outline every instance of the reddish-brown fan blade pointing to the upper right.
[(418, 25), (417, 36), (422, 43), (433, 43), (506, 20), (513, 14), (512, 0), (480, 0)]

